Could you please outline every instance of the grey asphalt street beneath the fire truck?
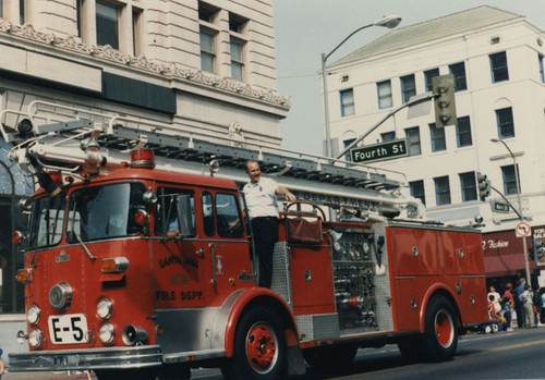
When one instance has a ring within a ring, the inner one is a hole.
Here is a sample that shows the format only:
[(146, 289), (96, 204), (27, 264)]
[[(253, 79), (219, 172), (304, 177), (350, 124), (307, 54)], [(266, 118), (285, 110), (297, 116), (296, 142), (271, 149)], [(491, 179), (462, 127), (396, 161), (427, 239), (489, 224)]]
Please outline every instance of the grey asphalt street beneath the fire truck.
[[(541, 352), (545, 348), (545, 328), (514, 329), (513, 332), (464, 335), (453, 360), (408, 364), (396, 345), (364, 348), (354, 363), (339, 371), (324, 373), (307, 368), (304, 380), (332, 379), (544, 379)], [(96, 380), (92, 373), (23, 372), (2, 380)], [(194, 369), (192, 379), (221, 380), (218, 369)]]

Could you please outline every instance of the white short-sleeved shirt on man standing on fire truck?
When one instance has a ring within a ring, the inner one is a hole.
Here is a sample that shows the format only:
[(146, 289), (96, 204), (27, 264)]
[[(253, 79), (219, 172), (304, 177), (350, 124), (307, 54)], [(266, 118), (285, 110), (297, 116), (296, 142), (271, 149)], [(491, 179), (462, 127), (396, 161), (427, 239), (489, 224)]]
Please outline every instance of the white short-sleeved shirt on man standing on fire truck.
[(256, 183), (247, 183), (242, 189), (250, 219), (259, 217), (277, 217), (278, 203), (276, 189), (278, 184), (271, 179), (261, 177)]

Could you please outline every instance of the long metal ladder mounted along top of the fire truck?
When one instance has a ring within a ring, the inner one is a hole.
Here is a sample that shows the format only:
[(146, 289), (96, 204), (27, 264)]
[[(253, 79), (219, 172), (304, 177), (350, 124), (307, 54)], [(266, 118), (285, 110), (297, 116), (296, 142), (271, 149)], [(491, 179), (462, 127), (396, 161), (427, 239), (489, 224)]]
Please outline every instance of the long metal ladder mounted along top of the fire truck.
[[(145, 146), (154, 151), (156, 159), (157, 159), (159, 169), (202, 172), (204, 164), (218, 160), (225, 176), (243, 183), (247, 181), (244, 173), (246, 160), (256, 160), (262, 172), (274, 175), (280, 184), (300, 192), (326, 194), (320, 198), (324, 203), (329, 197), (354, 197), (367, 201), (368, 208), (380, 205), (382, 209), (389, 208), (390, 211), (391, 206), (407, 206), (408, 203), (400, 196), (400, 189), (405, 186), (404, 175), (395, 171), (380, 171), (227, 136), (190, 134), (171, 124), (40, 100), (33, 101), (26, 113), (2, 111), (0, 121), (9, 113), (16, 115), (12, 119), (19, 119), (19, 123), (10, 130), (2, 123), (0, 132), (7, 142), (15, 144), (10, 158), (31, 175), (34, 174), (32, 168), (24, 163), (28, 155), (40, 159), (45, 169), (70, 171), (71, 163), (81, 164), (87, 159), (83, 146), (94, 140), (101, 151), (107, 152), (108, 162), (113, 163), (128, 161), (130, 150)], [(27, 138), (17, 142), (17, 130), (26, 131)], [(399, 180), (390, 179), (386, 173)]]

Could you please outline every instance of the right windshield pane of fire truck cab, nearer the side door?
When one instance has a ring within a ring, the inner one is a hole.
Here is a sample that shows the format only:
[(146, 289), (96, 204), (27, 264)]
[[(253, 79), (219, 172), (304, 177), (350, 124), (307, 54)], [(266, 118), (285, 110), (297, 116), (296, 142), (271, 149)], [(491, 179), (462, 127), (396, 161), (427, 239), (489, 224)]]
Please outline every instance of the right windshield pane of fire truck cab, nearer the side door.
[(66, 241), (77, 243), (138, 234), (137, 210), (146, 210), (141, 183), (117, 183), (74, 191), (70, 196)]

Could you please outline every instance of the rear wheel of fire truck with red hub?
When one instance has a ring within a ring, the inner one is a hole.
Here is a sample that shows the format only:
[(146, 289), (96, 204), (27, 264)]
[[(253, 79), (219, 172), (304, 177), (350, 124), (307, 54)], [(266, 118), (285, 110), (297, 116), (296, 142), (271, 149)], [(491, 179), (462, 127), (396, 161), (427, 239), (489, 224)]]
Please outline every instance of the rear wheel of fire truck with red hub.
[(422, 348), (431, 361), (450, 360), (458, 347), (458, 324), (456, 311), (444, 296), (429, 299), (424, 321)]

